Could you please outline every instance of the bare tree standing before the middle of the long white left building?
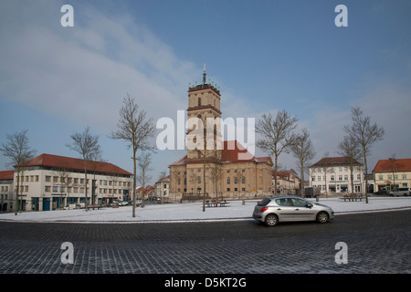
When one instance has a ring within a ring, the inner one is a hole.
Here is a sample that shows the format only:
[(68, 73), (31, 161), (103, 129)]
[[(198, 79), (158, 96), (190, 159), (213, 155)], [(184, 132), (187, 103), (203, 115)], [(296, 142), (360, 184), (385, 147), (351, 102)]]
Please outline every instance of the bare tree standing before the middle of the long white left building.
[(99, 136), (93, 136), (90, 133), (90, 127), (87, 126), (82, 133), (75, 133), (70, 136), (71, 144), (66, 144), (69, 150), (76, 151), (82, 157), (84, 165), (84, 189), (86, 197), (86, 212), (88, 211), (88, 196), (87, 196), (87, 163), (95, 157), (96, 153), (100, 152)]

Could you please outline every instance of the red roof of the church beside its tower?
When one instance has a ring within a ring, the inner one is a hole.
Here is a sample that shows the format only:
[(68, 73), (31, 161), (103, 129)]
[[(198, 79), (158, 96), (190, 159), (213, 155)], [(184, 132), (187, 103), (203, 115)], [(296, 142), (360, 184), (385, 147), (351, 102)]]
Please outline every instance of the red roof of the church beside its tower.
[[(272, 164), (269, 157), (255, 157), (238, 141), (224, 141), (224, 148), (221, 152), (222, 162), (267, 162)], [(171, 166), (187, 164), (188, 159), (185, 155), (182, 159), (174, 162)], [(195, 161), (196, 162), (196, 161)]]

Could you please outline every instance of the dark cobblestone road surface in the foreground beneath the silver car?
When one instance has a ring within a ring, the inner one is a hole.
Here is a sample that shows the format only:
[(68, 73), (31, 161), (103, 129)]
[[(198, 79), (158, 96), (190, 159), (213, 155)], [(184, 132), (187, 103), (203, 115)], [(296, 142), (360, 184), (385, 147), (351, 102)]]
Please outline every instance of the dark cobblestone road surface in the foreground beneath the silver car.
[[(410, 218), (411, 211), (350, 214), (272, 228), (252, 220), (0, 223), (0, 273), (411, 273)], [(61, 261), (64, 242), (73, 245), (73, 264)], [(335, 262), (337, 242), (348, 247), (347, 264)]]

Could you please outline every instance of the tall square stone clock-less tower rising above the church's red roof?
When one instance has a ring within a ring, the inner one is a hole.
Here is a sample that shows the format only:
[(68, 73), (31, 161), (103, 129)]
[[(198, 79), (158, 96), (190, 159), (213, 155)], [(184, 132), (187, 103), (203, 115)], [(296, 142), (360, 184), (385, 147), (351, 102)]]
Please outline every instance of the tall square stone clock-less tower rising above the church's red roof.
[[(219, 89), (210, 80), (208, 80), (208, 83), (206, 81), (204, 66), (203, 82), (200, 85), (195, 83), (194, 87), (190, 86), (188, 89), (187, 141), (192, 138), (191, 141), (199, 145), (197, 138), (201, 139), (203, 137), (207, 149), (206, 156), (208, 158), (214, 157), (217, 160), (221, 159), (222, 149), (220, 100)], [(191, 118), (194, 119), (190, 120)], [(198, 123), (199, 120), (201, 120), (201, 123)], [(213, 145), (210, 145), (211, 141)], [(200, 159), (201, 154), (198, 150), (203, 150), (203, 148), (197, 147), (197, 150), (193, 150), (187, 147), (187, 158), (189, 160)]]

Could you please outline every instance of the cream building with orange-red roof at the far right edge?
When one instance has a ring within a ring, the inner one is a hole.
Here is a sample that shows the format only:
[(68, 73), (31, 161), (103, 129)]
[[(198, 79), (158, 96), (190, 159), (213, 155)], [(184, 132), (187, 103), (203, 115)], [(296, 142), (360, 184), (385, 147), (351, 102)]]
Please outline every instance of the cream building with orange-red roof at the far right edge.
[(373, 170), (375, 192), (411, 187), (411, 159), (386, 159), (376, 163)]

